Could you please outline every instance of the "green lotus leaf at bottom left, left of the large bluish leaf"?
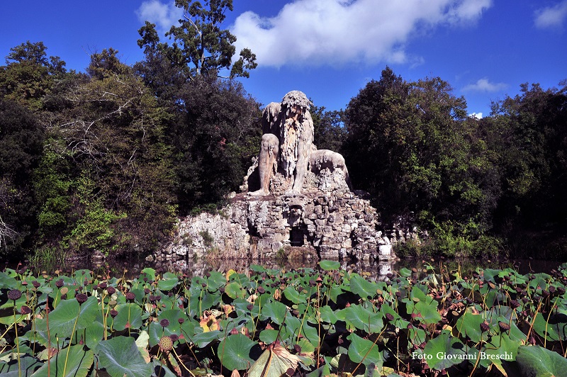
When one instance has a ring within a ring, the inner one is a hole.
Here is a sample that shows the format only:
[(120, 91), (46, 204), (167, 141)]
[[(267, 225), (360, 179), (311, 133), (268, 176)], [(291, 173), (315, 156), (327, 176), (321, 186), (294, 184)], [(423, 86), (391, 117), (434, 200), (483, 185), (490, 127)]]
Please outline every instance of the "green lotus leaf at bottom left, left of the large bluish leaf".
[[(85, 351), (82, 345), (77, 344), (57, 352), (50, 359), (49, 366), (45, 363), (33, 373), (32, 377), (86, 377), (93, 361), (93, 351), (91, 349)], [(48, 371), (50, 373), (47, 373)]]

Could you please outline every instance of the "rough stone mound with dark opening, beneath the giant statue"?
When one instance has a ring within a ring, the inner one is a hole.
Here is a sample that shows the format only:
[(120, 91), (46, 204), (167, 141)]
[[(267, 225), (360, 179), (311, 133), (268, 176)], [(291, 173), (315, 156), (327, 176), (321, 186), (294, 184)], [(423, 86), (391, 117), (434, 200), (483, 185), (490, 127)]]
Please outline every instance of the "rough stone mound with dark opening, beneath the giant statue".
[[(328, 210), (330, 202), (332, 212)], [(291, 253), (295, 257), (305, 254), (320, 259), (395, 257), (390, 239), (378, 230), (376, 209), (348, 190), (262, 197), (240, 193), (220, 213), (201, 213), (179, 220), (174, 242), (155, 259), (211, 255), (270, 259), (281, 249), (300, 250)]]

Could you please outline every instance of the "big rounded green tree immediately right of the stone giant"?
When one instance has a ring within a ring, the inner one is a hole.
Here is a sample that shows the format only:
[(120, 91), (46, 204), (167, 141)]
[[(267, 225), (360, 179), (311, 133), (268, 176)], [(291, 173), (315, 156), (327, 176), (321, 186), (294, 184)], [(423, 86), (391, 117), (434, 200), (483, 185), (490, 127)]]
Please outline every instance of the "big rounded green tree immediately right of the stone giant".
[(490, 228), (499, 189), (493, 162), (477, 124), (466, 118), (466, 101), (446, 81), (408, 82), (386, 68), (345, 116), (354, 185), (373, 194), (384, 220), (413, 213), (422, 225), (463, 240)]

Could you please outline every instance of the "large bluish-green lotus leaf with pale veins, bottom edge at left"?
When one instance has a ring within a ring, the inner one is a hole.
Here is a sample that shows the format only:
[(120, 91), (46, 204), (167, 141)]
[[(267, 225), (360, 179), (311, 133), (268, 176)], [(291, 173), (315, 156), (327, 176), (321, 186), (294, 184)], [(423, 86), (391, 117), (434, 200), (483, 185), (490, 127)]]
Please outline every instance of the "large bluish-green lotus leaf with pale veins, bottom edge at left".
[(99, 368), (111, 376), (150, 376), (152, 367), (137, 349), (133, 337), (115, 337), (99, 344)]

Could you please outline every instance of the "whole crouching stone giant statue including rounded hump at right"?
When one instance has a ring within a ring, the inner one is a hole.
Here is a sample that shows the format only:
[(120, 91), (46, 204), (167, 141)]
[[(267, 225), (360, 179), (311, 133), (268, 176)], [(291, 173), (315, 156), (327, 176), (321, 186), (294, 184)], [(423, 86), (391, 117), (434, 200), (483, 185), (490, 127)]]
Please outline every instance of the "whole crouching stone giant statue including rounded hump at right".
[[(337, 181), (342, 181), (344, 188), (352, 189), (342, 155), (331, 150), (317, 150), (313, 144), (311, 105), (313, 103), (303, 92), (295, 90), (286, 94), (281, 103), (272, 102), (266, 106), (262, 114), (264, 135), (257, 160), (260, 188), (249, 195), (268, 195), (274, 174), (277, 174), (276, 181), (281, 182), (281, 178), (286, 181), (288, 188), (284, 191), (287, 193), (301, 193), (308, 174), (315, 180), (320, 177), (320, 184), (315, 186), (337, 187), (341, 186)], [(251, 171), (248, 176), (250, 174)], [(313, 187), (313, 182), (308, 181), (306, 185)]]

